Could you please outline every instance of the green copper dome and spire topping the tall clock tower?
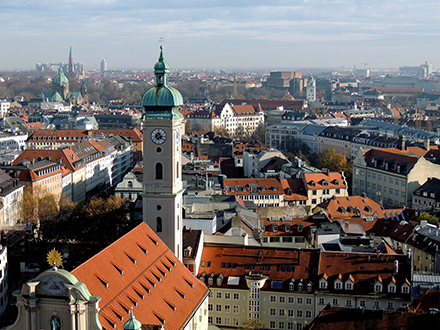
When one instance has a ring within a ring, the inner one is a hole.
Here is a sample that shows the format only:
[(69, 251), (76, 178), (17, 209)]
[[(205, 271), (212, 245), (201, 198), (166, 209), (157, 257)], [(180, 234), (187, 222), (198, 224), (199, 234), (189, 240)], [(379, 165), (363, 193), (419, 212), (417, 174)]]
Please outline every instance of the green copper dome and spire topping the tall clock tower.
[[(160, 56), (154, 65), (156, 86), (150, 88), (142, 97), (144, 107), (176, 107), (183, 104), (182, 94), (167, 84), (170, 67), (163, 59), (163, 47), (160, 46)], [(146, 109), (149, 111), (149, 109)]]

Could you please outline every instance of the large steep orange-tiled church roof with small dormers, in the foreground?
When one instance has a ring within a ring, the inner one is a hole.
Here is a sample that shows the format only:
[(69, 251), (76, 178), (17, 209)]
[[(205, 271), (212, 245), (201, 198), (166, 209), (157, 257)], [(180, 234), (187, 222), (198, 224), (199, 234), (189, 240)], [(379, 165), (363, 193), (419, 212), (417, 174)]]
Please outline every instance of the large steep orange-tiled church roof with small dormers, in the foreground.
[(142, 324), (183, 329), (208, 289), (146, 225), (128, 234), (72, 271), (90, 293), (102, 297), (99, 320), (122, 329), (132, 307)]

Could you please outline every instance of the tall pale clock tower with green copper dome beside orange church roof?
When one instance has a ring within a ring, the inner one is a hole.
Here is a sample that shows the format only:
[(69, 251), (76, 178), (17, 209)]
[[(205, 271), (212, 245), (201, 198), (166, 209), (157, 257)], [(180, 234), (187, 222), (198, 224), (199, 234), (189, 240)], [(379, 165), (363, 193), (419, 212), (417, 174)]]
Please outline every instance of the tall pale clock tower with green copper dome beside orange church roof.
[(182, 260), (182, 95), (168, 86), (169, 65), (160, 46), (156, 84), (142, 97), (144, 173), (143, 221)]

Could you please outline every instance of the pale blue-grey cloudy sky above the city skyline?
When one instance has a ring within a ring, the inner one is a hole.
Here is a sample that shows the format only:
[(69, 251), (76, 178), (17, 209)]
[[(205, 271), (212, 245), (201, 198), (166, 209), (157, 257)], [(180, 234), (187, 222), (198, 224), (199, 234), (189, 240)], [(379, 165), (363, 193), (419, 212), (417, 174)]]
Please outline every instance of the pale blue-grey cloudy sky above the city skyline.
[(0, 71), (38, 62), (151, 69), (438, 65), (435, 0), (2, 0)]

